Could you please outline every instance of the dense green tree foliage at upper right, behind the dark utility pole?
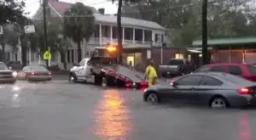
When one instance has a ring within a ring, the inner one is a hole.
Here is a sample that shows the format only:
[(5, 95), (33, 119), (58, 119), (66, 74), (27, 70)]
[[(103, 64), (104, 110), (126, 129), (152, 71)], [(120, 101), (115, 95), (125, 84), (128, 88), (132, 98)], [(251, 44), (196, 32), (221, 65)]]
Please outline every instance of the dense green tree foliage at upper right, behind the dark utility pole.
[[(201, 0), (141, 0), (123, 8), (127, 17), (151, 20), (171, 31), (172, 46), (187, 47), (201, 39)], [(208, 2), (208, 37), (256, 36), (251, 0)]]

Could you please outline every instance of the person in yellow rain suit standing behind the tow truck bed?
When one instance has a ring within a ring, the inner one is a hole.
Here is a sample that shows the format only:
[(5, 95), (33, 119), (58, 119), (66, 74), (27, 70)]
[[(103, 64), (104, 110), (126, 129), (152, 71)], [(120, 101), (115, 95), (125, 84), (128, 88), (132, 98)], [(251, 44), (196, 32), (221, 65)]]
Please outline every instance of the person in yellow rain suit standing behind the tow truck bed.
[(148, 87), (156, 84), (157, 74), (156, 74), (156, 70), (154, 69), (153, 60), (150, 60), (150, 64), (146, 68), (144, 79), (148, 80)]

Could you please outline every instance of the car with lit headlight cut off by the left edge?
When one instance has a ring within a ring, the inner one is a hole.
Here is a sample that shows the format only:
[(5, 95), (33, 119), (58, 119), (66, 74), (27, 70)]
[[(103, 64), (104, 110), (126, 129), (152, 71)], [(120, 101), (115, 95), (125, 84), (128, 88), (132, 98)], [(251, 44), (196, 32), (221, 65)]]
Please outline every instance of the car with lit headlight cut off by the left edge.
[(10, 70), (6, 64), (0, 62), (0, 82), (11, 82), (16, 81), (17, 72)]

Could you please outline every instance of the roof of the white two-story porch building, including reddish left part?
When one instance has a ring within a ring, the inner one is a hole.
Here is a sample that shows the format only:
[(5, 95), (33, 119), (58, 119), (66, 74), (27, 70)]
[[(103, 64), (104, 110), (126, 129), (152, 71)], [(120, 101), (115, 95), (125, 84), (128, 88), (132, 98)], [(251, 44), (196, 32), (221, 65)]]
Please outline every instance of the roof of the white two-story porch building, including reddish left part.
[[(48, 3), (49, 3), (49, 7), (53, 8), (53, 10), (60, 17), (64, 14), (65, 10), (73, 4), (73, 3), (60, 2), (58, 0), (48, 0)], [(93, 7), (89, 7), (89, 8), (91, 8), (92, 11), (94, 12), (96, 22), (108, 23), (108, 24), (116, 24), (117, 23), (116, 16), (99, 14), (99, 12), (96, 10), (96, 8), (93, 8)], [(152, 21), (147, 21), (147, 20), (137, 20), (137, 19), (133, 19), (133, 18), (122, 17), (121, 23), (122, 23), (122, 25), (127, 25), (127, 26), (139, 26), (139, 27), (144, 27), (144, 28), (166, 30), (161, 25), (159, 25), (155, 22), (152, 22)]]

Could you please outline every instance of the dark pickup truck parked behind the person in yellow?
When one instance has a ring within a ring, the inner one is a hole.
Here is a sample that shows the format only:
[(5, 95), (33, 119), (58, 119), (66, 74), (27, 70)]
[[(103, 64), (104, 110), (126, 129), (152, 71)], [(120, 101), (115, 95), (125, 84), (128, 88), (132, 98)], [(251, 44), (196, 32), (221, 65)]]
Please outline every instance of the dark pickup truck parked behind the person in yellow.
[(183, 76), (195, 70), (195, 65), (187, 59), (171, 59), (168, 64), (160, 65), (161, 76), (167, 78), (172, 76)]

